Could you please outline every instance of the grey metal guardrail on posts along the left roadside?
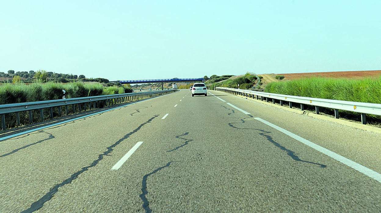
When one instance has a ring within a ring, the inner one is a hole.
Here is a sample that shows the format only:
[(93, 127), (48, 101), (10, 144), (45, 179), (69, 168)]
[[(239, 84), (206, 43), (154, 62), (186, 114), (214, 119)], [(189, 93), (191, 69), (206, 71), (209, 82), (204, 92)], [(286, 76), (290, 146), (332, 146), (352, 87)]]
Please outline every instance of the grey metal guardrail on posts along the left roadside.
[[(93, 108), (97, 108), (96, 104), (99, 101), (105, 101), (104, 104), (112, 105), (122, 102), (135, 101), (138, 99), (158, 96), (161, 94), (166, 94), (176, 90), (159, 90), (159, 91), (149, 91), (149, 92), (136, 92), (136, 93), (124, 93), (124, 94), (113, 94), (113, 95), (102, 95), (102, 96), (91, 96), (83, 98), (67, 98), (58, 99), (51, 101), (36, 101), (36, 102), (24, 102), (18, 104), (3, 104), (0, 105), (0, 115), (2, 120), (2, 130), (6, 130), (5, 115), (10, 113), (16, 113), (16, 124), (20, 126), (20, 112), (29, 111), (29, 123), (33, 123), (32, 110), (40, 110), (40, 121), (44, 121), (43, 109), (50, 109), (50, 118), (53, 119), (53, 107), (58, 107), (58, 114), (62, 116), (61, 106), (65, 106), (66, 115), (69, 114), (69, 105), (72, 106), (72, 113), (75, 113), (75, 105), (79, 112), (82, 112), (82, 104), (84, 110), (89, 107), (91, 109), (91, 103), (93, 103)], [(98, 103), (99, 106), (99, 103)]]

